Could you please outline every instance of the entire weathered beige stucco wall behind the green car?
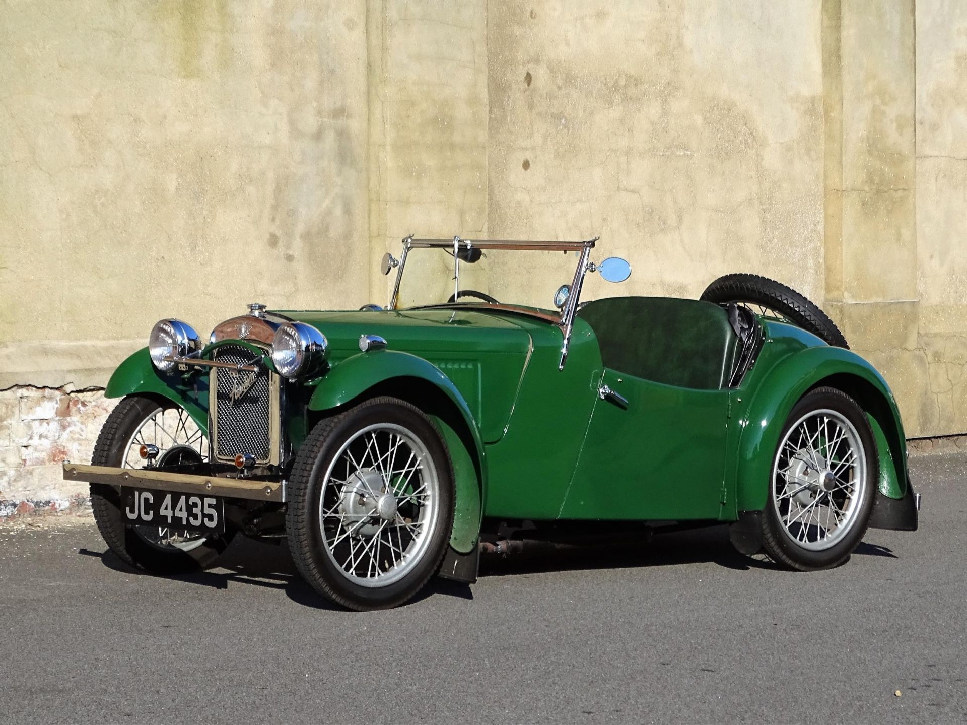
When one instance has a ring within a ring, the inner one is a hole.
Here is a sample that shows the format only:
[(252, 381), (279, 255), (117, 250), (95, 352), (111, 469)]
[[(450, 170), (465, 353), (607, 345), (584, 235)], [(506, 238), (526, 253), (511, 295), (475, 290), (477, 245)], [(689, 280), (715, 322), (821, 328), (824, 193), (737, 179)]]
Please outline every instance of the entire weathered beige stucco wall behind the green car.
[(774, 277), (967, 432), (957, 0), (0, 0), (0, 69), (0, 501), (81, 493), (156, 318), (384, 302), (409, 232)]

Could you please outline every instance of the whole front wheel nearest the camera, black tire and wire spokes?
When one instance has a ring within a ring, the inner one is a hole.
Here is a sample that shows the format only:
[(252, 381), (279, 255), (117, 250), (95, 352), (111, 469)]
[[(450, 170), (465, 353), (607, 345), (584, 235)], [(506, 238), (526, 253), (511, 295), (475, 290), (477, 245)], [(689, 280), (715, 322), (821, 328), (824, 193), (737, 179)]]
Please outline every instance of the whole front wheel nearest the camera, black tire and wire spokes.
[(286, 531), (303, 578), (356, 610), (395, 607), (436, 573), (454, 520), (450, 455), (395, 398), (321, 421), (299, 450)]

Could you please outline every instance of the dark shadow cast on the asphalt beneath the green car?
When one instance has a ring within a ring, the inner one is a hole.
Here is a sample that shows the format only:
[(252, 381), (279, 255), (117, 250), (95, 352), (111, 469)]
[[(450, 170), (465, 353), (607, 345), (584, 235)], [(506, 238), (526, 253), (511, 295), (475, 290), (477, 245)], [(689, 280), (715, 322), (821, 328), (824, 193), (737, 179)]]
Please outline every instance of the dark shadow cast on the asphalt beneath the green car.
[[(267, 543), (236, 536), (219, 559), (217, 569), (190, 574), (167, 575), (164, 578), (213, 589), (228, 589), (229, 584), (245, 584), (267, 589), (281, 589), (294, 602), (316, 609), (344, 611), (308, 586), (296, 570), (289, 556), (285, 539)], [(861, 542), (856, 552), (860, 556), (897, 559), (884, 546)], [(129, 575), (153, 576), (133, 569), (110, 550), (103, 552), (80, 549), (78, 554), (101, 559), (104, 566)], [(647, 543), (629, 545), (627, 541), (601, 541), (583, 546), (553, 548), (537, 544), (525, 551), (508, 555), (481, 557), (480, 577), (502, 577), (555, 571), (595, 569), (624, 569), (652, 566), (678, 566), (714, 563), (726, 569), (748, 571), (766, 569), (784, 571), (762, 556), (755, 558), (739, 554), (729, 543), (725, 526), (676, 531), (654, 536)], [(426, 587), (408, 602), (413, 604), (427, 596), (443, 594), (462, 599), (473, 599), (472, 589), (465, 584), (434, 577)]]

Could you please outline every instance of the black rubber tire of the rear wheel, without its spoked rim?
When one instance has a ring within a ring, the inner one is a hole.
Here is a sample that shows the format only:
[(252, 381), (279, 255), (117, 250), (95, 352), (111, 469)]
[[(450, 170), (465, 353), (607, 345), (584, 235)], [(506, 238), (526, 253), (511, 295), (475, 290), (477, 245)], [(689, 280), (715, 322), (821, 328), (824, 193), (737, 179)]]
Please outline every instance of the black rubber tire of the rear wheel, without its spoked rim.
[(864, 533), (869, 526), (869, 516), (873, 510), (873, 499), (876, 496), (876, 486), (880, 478), (879, 454), (876, 448), (876, 438), (866, 420), (866, 414), (859, 404), (846, 393), (833, 387), (820, 387), (806, 393), (799, 403), (789, 413), (779, 441), (809, 410), (830, 408), (841, 413), (849, 420), (859, 433), (863, 442), (866, 459), (866, 486), (864, 499), (860, 501), (859, 512), (854, 520), (852, 529), (847, 531), (841, 541), (824, 551), (811, 551), (795, 543), (786, 533), (779, 521), (776, 507), (773, 505), (774, 481), (772, 479), (775, 468), (777, 451), (773, 451), (773, 466), (770, 467), (769, 498), (766, 508), (759, 517), (762, 525), (762, 546), (770, 559), (777, 564), (796, 571), (816, 571), (831, 569), (849, 559), (850, 555), (863, 540)]

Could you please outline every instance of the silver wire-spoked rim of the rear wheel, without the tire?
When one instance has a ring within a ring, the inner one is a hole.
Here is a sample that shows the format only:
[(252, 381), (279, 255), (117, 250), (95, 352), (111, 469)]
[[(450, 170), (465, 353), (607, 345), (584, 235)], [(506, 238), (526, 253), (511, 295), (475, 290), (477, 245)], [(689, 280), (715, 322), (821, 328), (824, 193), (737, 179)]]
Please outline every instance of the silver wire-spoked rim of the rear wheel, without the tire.
[(772, 503), (783, 533), (799, 547), (834, 547), (860, 520), (866, 495), (863, 440), (841, 412), (803, 415), (779, 443)]

